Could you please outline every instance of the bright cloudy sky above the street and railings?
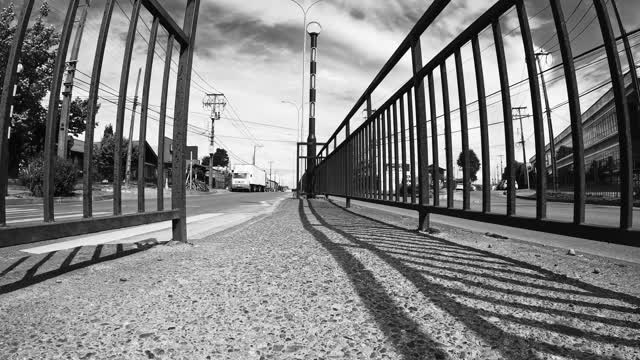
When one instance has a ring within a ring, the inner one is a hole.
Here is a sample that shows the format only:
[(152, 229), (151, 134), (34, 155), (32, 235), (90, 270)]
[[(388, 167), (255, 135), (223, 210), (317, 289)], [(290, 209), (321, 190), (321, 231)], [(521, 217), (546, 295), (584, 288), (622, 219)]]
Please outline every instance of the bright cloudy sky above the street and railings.
[[(298, 0), (303, 7), (312, 4), (310, 0)], [(5, 7), (8, 0), (0, 0)], [(39, 5), (42, 0), (36, 0)], [(67, 0), (49, 0), (52, 9), (48, 21), (60, 26), (66, 12)], [(84, 2), (84, 0), (82, 1)], [(184, 0), (159, 0), (169, 13), (182, 24)], [(484, 13), (496, 1), (454, 0), (437, 17), (421, 37), (423, 62), (427, 63), (437, 55), (452, 39), (467, 28), (478, 16)], [(16, 2), (21, 3), (21, 2)], [(92, 0), (88, 20), (78, 58), (78, 75), (74, 95), (86, 97), (95, 54), (95, 44), (100, 28), (105, 0)], [(602, 44), (600, 31), (592, 1), (563, 0), (562, 7), (567, 17), (567, 26), (571, 33), (574, 55), (581, 54)], [(623, 24), (627, 31), (640, 27), (640, 2), (637, 0), (618, 0), (622, 10)], [(384, 63), (403, 41), (415, 22), (424, 14), (431, 1), (423, 0), (322, 0), (316, 3), (307, 15), (307, 21), (317, 21), (322, 25), (318, 41), (318, 80), (316, 105), (316, 135), (319, 142), (325, 141), (345, 119), (345, 116), (362, 96), (364, 90), (380, 71)], [(536, 51), (548, 52), (542, 59), (542, 68), (547, 69), (559, 64), (560, 53), (554, 35), (553, 19), (548, 1), (525, 1), (533, 41)], [(16, 4), (19, 8), (20, 5)], [(611, 7), (609, 7), (611, 10)], [(612, 11), (611, 11), (612, 12)], [(124, 52), (124, 41), (128, 29), (128, 16), (131, 13), (130, 0), (118, 0), (114, 10), (107, 55), (101, 79), (101, 108), (97, 115), (99, 123), (96, 141), (102, 136), (107, 124), (115, 124), (115, 94), (120, 83), (120, 73)], [(147, 40), (152, 18), (143, 11), (135, 40), (134, 58), (128, 81), (128, 97), (134, 96), (136, 74), (144, 68), (147, 53)], [(524, 106), (524, 113), (531, 112), (530, 96), (526, 79), (522, 40), (515, 11), (501, 18), (502, 33), (507, 53), (510, 83), (513, 86), (513, 106)], [(615, 25), (615, 23), (614, 23)], [(614, 26), (619, 34), (619, 29)], [(308, 88), (302, 92), (302, 49), (303, 49), (303, 13), (292, 0), (202, 0), (198, 18), (194, 73), (190, 93), (188, 145), (199, 147), (202, 158), (208, 152), (210, 120), (208, 110), (203, 109), (202, 100), (206, 93), (224, 93), (228, 104), (222, 117), (215, 124), (216, 147), (227, 149), (233, 164), (251, 163), (255, 148), (256, 164), (278, 175), (281, 183), (291, 185), (295, 172), (295, 142), (299, 139), (298, 110), (304, 93), (305, 118), (302, 121), (303, 139), (307, 136)], [(640, 36), (632, 36), (632, 45), (640, 44)], [(485, 29), (480, 34), (483, 56), (483, 69), (486, 77), (487, 94), (499, 89), (493, 34)], [(308, 45), (308, 42), (307, 42)], [(157, 111), (160, 104), (162, 68), (167, 48), (167, 34), (160, 31), (156, 57), (152, 68), (150, 87), (150, 119), (147, 138), (151, 146), (157, 146)], [(622, 47), (620, 47), (622, 50)], [(636, 59), (640, 58), (640, 47), (634, 47)], [(475, 101), (475, 72), (470, 44), (462, 50), (465, 91), (469, 103), (469, 126), (479, 124)], [(308, 55), (308, 51), (307, 51)], [(606, 61), (597, 61), (603, 51), (584, 56), (577, 61), (581, 106), (585, 111), (607, 90), (608, 70)], [(172, 81), (170, 82), (169, 114), (173, 115), (175, 96), (175, 70), (177, 69), (177, 51), (174, 51)], [(636, 61), (637, 62), (637, 61)], [(308, 87), (308, 58), (304, 60), (305, 86)], [(453, 58), (447, 59), (449, 95), (451, 109), (457, 109), (458, 89)], [(622, 66), (628, 69), (628, 63), (622, 58)], [(143, 75), (145, 69), (142, 71)], [(397, 88), (411, 77), (411, 63), (408, 55), (400, 61), (394, 70), (372, 94), (373, 108), (382, 105)], [(557, 135), (569, 125), (566, 105), (566, 89), (562, 69), (556, 68), (545, 73), (548, 82), (549, 102), (552, 111), (554, 133)], [(439, 71), (435, 74), (437, 113), (442, 114), (442, 91)], [(520, 85), (517, 85), (520, 83)], [(429, 94), (428, 94), (429, 95)], [(142, 96), (142, 93), (139, 94)], [(496, 164), (504, 158), (504, 129), (501, 124), (502, 113), (499, 95), (490, 97), (489, 119), (491, 169), (492, 176), (498, 173)], [(292, 102), (295, 105), (290, 103)], [(427, 102), (428, 103), (428, 102)], [(131, 103), (128, 103), (128, 108)], [(139, 107), (138, 107), (139, 109)], [(427, 108), (429, 113), (429, 108)], [(125, 137), (128, 137), (131, 111), (125, 118)], [(138, 134), (138, 119), (134, 121), (134, 139)], [(169, 124), (172, 119), (169, 119)], [(444, 128), (442, 117), (437, 120), (440, 131)], [(358, 109), (352, 119), (352, 128), (362, 123), (362, 113)], [(460, 114), (452, 113), (453, 130), (460, 129)], [(545, 128), (546, 129), (546, 128)], [(167, 134), (171, 136), (172, 128)], [(533, 155), (533, 124), (531, 118), (523, 119), (525, 150), (527, 158)], [(548, 129), (545, 130), (548, 134)], [(516, 141), (520, 138), (519, 123), (514, 123)], [(429, 133), (429, 136), (431, 134)], [(480, 132), (471, 129), (470, 147), (480, 155)], [(548, 135), (547, 135), (548, 137)], [(82, 136), (80, 137), (82, 139)], [(342, 138), (339, 138), (342, 141)], [(440, 147), (444, 138), (440, 136)], [(453, 152), (461, 150), (459, 132), (453, 136)], [(516, 146), (516, 158), (521, 160), (522, 148)], [(457, 157), (454, 155), (454, 157)], [(440, 164), (444, 163), (444, 151), (440, 151)]]

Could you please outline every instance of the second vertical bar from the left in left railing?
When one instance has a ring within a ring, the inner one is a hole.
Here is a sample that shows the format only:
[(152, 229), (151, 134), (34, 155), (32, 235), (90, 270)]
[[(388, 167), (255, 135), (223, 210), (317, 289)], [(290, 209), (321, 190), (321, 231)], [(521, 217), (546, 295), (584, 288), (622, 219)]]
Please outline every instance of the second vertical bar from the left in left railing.
[(79, 0), (69, 1), (67, 15), (64, 19), (64, 26), (60, 35), (60, 43), (58, 45), (56, 62), (53, 67), (53, 80), (51, 81), (51, 89), (49, 92), (49, 109), (47, 110), (46, 135), (44, 138), (44, 184), (42, 192), (44, 199), (42, 200), (44, 221), (53, 221), (53, 195), (55, 190), (54, 184), (54, 161), (56, 159), (56, 139), (57, 139), (57, 120), (58, 120), (58, 104), (60, 103), (60, 88), (62, 86), (64, 69), (66, 66), (67, 50), (69, 50), (69, 42), (71, 41), (71, 33), (73, 32), (73, 23), (76, 18), (76, 10), (78, 10)]

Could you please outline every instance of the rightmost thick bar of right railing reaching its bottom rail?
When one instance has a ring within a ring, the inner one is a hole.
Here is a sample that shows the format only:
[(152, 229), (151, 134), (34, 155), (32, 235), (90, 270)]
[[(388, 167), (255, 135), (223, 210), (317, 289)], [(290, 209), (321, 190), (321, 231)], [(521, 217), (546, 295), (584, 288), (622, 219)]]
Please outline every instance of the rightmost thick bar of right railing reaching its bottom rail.
[[(633, 153), (631, 149), (631, 124), (624, 86), (624, 75), (616, 38), (611, 27), (607, 7), (602, 0), (593, 0), (600, 23), (600, 32), (607, 53), (611, 89), (614, 94), (616, 117), (618, 118), (618, 142), (620, 147), (620, 228), (629, 229), (633, 225)], [(633, 66), (634, 64), (630, 64)]]

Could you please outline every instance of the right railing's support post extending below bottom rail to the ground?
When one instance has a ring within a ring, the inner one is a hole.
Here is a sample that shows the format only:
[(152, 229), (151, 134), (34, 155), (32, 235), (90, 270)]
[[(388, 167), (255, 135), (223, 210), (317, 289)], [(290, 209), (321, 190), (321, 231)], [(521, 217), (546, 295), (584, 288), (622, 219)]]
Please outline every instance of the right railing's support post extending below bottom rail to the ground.
[[(422, 69), (422, 48), (420, 38), (414, 38), (411, 44), (411, 59), (413, 64), (413, 86), (415, 88), (416, 126), (418, 127), (418, 182), (420, 183), (419, 203), (420, 215), (418, 230), (429, 231), (430, 221), (427, 211), (429, 202), (429, 149), (427, 147), (427, 109), (425, 104), (424, 79), (418, 78)], [(432, 95), (433, 96), (433, 95)], [(432, 119), (435, 121), (435, 119)], [(435, 136), (435, 135), (434, 135)], [(411, 159), (413, 161), (413, 159)]]

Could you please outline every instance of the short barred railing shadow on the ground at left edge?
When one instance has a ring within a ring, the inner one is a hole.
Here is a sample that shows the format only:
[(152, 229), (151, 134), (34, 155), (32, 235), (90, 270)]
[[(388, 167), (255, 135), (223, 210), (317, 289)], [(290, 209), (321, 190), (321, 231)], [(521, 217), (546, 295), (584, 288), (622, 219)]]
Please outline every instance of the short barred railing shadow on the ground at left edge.
[(0, 295), (148, 248), (136, 244), (107, 244), (24, 256), (0, 272)]

